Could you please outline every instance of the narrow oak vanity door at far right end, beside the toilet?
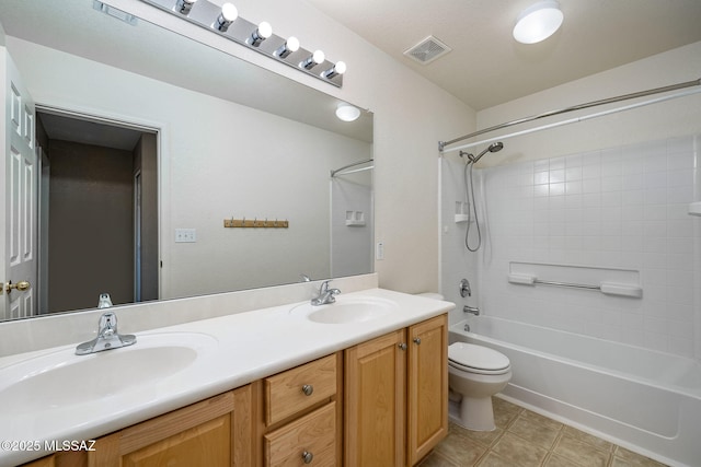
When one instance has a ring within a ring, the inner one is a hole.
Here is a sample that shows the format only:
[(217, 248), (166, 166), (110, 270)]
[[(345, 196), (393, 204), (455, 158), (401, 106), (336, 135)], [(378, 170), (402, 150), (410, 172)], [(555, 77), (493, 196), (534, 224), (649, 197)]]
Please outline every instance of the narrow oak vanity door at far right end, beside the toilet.
[(437, 316), (409, 328), (409, 465), (448, 434), (448, 322)]

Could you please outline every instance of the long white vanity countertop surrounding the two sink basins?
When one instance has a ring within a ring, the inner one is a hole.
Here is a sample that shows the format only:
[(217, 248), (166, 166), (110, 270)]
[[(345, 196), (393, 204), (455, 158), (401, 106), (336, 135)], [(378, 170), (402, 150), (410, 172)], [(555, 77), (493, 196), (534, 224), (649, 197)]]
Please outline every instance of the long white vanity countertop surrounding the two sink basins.
[[(142, 341), (147, 341), (149, 335), (160, 332), (202, 332), (211, 336), (217, 343), (204, 350), (202, 363), (193, 364), (162, 380), (142, 385), (135, 384), (128, 390), (93, 400), (88, 398), (84, 402), (70, 407), (50, 407), (38, 413), (23, 413), (13, 407), (12, 413), (8, 415), (7, 408), (0, 409), (0, 443), (3, 443), (0, 445), (0, 466), (13, 466), (48, 454), (44, 451), (45, 441), (94, 440), (386, 332), (447, 313), (455, 307), (450, 302), (383, 289), (342, 294), (337, 300), (341, 303), (343, 300), (358, 297), (389, 300), (397, 303), (400, 311), (363, 323), (320, 324), (307, 319), (306, 313), (300, 312), (303, 307), (298, 307), (307, 302), (298, 302), (137, 332), (135, 346), (139, 346), (139, 336), (142, 336)], [(72, 350), (78, 343), (80, 342), (0, 358), (0, 374), (27, 359), (60, 350)], [(119, 350), (108, 350), (89, 357), (100, 358)], [(108, 372), (110, 367), (105, 367), (104, 371)], [(101, 377), (100, 374), (89, 376)], [(129, 374), (123, 376), (128, 378)], [(8, 383), (0, 381), (0, 390), (8, 386)], [(64, 383), (65, 386), (57, 390), (68, 389), (80, 394), (79, 381)], [(0, 401), (0, 407), (3, 404), (12, 401)], [(7, 442), (14, 442), (14, 445), (10, 445), (8, 450)], [(22, 450), (20, 447), (26, 447), (22, 443), (32, 443), (42, 450)]]

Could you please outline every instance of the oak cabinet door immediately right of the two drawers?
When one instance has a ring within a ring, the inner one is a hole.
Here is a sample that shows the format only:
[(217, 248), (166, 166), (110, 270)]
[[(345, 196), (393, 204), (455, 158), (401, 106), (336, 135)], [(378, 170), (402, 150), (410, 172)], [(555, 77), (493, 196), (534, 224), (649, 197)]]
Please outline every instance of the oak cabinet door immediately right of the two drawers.
[(345, 466), (403, 466), (406, 332), (346, 350)]

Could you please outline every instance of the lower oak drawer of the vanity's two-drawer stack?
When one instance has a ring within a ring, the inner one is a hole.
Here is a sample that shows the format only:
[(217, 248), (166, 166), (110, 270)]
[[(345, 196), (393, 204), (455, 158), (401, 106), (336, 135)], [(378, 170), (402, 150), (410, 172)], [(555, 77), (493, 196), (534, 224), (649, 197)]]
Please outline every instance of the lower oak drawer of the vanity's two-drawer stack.
[(265, 465), (335, 466), (335, 439), (336, 402), (333, 401), (266, 434)]

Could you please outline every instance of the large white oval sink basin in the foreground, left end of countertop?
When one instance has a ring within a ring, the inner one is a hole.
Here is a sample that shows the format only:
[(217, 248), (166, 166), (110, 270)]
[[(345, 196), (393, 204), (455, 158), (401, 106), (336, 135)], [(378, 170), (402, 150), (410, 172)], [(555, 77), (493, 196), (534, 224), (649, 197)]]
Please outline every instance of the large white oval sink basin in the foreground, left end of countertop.
[(145, 387), (187, 369), (216, 345), (199, 332), (147, 334), (130, 347), (89, 355), (71, 347), (27, 359), (0, 369), (0, 412), (36, 413)]

